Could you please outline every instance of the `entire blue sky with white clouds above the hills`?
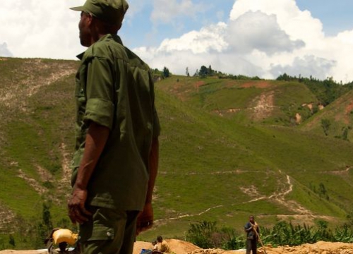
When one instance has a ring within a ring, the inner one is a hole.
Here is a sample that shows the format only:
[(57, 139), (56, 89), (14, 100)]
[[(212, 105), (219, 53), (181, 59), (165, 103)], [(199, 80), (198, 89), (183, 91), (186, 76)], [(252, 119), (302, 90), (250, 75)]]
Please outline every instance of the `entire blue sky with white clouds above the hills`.
[[(0, 56), (75, 59), (84, 0), (0, 0)], [(119, 31), (152, 68), (353, 80), (352, 0), (128, 0)]]

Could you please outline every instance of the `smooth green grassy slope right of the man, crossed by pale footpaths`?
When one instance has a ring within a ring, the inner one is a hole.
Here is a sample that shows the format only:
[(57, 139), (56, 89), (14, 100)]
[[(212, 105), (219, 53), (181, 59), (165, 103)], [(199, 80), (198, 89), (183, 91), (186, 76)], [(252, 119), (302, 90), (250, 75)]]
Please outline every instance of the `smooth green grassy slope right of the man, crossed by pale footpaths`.
[[(353, 201), (352, 195), (346, 191), (352, 181), (338, 184), (345, 176), (335, 175), (332, 171), (352, 165), (353, 160), (349, 157), (352, 145), (337, 139), (323, 140), (319, 135), (294, 128), (244, 126), (234, 121), (234, 117), (228, 119), (207, 114), (198, 108), (199, 104), (192, 104), (197, 101), (193, 101), (192, 96), (190, 99), (184, 92), (186, 89), (181, 87), (188, 83), (191, 87), (196, 85), (191, 80), (184, 84), (183, 81), (179, 78), (179, 82), (171, 79), (157, 84), (158, 90), (173, 93), (179, 99), (174, 95), (158, 94), (158, 108), (164, 126), (161, 137), (162, 174), (157, 181), (155, 203), (158, 212), (162, 212), (157, 213), (157, 217), (193, 216), (183, 217), (177, 222), (169, 220), (167, 226), (157, 231), (173, 236), (181, 231), (180, 221), (184, 221), (185, 230), (187, 222), (201, 219), (217, 219), (228, 225), (240, 226), (242, 221), (236, 218), (246, 219), (249, 212), (263, 214), (263, 220), (270, 223), (274, 222), (275, 214), (296, 214), (274, 200), (244, 204), (252, 198), (240, 189), (256, 186), (258, 197), (270, 195), (288, 188), (286, 174), (294, 183), (294, 191), (286, 198), (297, 200), (314, 214), (345, 217), (342, 208), (349, 210), (347, 204)], [(208, 81), (203, 80), (205, 83)], [(215, 81), (213, 85), (222, 86)], [(213, 97), (219, 96), (215, 93), (217, 91), (213, 92)], [(312, 99), (311, 95), (309, 99)], [(215, 171), (220, 174), (214, 174)], [(199, 172), (203, 172), (202, 175)], [(320, 183), (328, 189), (329, 202), (314, 193)], [(345, 200), (342, 200), (342, 190), (345, 190)], [(210, 207), (213, 209), (209, 212), (196, 215)], [(162, 223), (166, 222), (162, 220)], [(168, 226), (169, 223), (173, 226)], [(153, 234), (154, 231), (145, 237)]]

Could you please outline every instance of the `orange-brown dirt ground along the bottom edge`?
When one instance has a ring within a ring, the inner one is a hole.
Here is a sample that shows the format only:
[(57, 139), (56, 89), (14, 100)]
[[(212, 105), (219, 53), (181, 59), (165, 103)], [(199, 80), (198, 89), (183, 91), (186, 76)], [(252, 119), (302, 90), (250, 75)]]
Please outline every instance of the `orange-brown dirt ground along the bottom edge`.
[[(221, 249), (201, 249), (185, 241), (167, 239), (169, 246), (176, 254), (240, 254), (245, 253), (245, 250), (221, 250)], [(152, 248), (151, 243), (138, 241), (135, 243), (133, 254), (139, 254), (142, 249)], [(2, 250), (0, 254), (46, 254), (45, 250)], [(353, 243), (328, 243), (318, 242), (314, 244), (306, 243), (296, 247), (278, 247), (271, 248), (270, 246), (258, 249), (258, 254), (353, 254)]]

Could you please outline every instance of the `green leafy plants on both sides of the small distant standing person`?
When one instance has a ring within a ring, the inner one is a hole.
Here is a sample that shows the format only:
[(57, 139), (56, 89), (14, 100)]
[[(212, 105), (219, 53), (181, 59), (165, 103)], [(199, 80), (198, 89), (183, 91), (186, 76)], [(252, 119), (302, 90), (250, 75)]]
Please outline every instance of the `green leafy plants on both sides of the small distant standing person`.
[[(328, 222), (319, 220), (316, 226), (292, 224), (292, 222), (277, 222), (273, 228), (260, 227), (260, 237), (263, 244), (272, 246), (299, 246), (304, 243), (318, 241), (333, 241), (353, 243), (353, 228), (347, 224), (328, 229)], [(244, 248), (244, 233), (239, 234), (234, 229), (218, 229), (215, 222), (198, 222), (191, 224), (186, 240), (201, 248), (224, 248), (237, 250)]]

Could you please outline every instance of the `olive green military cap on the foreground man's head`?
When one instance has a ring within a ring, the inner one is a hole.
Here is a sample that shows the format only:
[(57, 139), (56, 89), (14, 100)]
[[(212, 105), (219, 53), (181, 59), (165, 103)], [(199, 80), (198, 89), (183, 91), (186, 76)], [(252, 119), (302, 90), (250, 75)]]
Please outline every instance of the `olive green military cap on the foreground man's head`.
[(121, 25), (127, 9), (125, 0), (86, 0), (83, 6), (71, 8), (73, 11), (90, 13), (110, 25)]

